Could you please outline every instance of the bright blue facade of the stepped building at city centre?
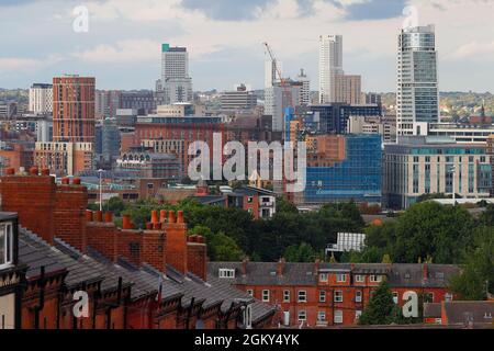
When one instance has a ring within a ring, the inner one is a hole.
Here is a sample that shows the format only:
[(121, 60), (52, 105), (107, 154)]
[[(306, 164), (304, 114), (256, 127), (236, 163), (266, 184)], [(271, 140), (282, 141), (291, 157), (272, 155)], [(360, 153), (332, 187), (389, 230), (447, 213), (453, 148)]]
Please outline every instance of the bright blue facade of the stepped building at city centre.
[(380, 135), (345, 136), (346, 158), (332, 167), (307, 167), (304, 203), (338, 201), (381, 203)]

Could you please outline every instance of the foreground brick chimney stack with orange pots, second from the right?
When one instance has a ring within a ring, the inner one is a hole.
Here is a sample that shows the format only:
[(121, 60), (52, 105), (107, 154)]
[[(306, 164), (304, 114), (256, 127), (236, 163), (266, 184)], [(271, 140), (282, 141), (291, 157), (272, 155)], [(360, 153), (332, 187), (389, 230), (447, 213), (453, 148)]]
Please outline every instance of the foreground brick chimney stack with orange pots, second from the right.
[(188, 269), (187, 225), (183, 223), (183, 212), (179, 211), (177, 217), (173, 211), (168, 213), (168, 223), (164, 225), (167, 235), (166, 258), (167, 263), (176, 270), (186, 273)]

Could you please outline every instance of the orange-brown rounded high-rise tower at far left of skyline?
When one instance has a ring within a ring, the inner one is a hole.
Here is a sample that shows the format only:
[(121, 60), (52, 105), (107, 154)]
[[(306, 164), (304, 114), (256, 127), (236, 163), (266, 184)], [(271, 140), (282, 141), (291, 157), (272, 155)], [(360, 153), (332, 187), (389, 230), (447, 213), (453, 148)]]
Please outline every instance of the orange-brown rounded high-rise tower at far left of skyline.
[(53, 79), (53, 140), (94, 143), (94, 84), (91, 77)]

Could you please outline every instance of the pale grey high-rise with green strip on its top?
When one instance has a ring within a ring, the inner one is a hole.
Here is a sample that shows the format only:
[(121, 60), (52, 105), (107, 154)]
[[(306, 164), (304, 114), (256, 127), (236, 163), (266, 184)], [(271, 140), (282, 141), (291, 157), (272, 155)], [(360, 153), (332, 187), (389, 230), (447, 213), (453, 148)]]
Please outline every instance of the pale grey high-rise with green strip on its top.
[(186, 47), (161, 46), (161, 79), (157, 82), (158, 104), (192, 102), (189, 53)]

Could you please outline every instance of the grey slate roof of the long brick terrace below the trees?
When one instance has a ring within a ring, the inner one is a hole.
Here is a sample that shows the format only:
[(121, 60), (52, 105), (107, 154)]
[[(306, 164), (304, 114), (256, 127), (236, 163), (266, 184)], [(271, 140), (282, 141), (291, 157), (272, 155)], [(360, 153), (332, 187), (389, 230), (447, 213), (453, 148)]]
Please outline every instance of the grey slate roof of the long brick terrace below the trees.
[[(218, 270), (234, 269), (235, 279), (231, 283), (245, 285), (316, 285), (317, 273), (314, 263), (284, 263), (282, 276), (277, 275), (277, 262), (249, 262), (247, 274), (242, 273), (242, 262), (210, 262), (209, 274), (218, 276)], [(457, 265), (427, 264), (427, 279), (423, 278), (424, 264), (418, 263), (319, 263), (318, 272), (388, 275), (391, 286), (400, 287), (445, 287), (452, 275), (459, 272)]]

